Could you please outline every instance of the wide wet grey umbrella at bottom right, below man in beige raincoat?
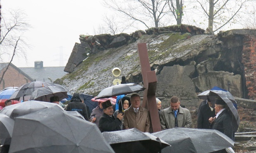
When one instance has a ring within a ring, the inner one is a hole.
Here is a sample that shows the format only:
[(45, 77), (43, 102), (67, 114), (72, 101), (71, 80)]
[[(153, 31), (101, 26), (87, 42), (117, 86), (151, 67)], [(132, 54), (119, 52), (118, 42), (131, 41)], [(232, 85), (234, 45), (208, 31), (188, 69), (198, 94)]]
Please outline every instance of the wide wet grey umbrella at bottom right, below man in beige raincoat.
[(166, 141), (162, 153), (210, 153), (234, 146), (234, 141), (214, 129), (173, 128), (153, 133)]

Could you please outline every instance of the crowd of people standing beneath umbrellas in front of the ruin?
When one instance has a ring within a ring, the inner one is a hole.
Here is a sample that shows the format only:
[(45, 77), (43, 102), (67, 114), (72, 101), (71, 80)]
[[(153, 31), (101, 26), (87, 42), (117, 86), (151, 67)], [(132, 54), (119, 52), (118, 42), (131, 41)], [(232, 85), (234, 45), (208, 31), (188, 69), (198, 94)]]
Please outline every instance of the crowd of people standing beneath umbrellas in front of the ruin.
[[(59, 98), (53, 96), (51, 103), (59, 104)], [(11, 100), (5, 101), (5, 106), (11, 105)], [(141, 97), (134, 93), (130, 97), (122, 96), (117, 102), (118, 109), (115, 110), (110, 100), (98, 102), (98, 106), (89, 111), (79, 93), (74, 93), (70, 103), (66, 106), (66, 111), (78, 111), (85, 120), (95, 123), (101, 132), (118, 131), (136, 128), (142, 132), (152, 132), (149, 110), (141, 107)], [(171, 129), (175, 127), (192, 128), (190, 111), (181, 107), (178, 97), (173, 96), (170, 100), (170, 107), (161, 110), (161, 100), (156, 98), (156, 108), (158, 109), (161, 129)], [(234, 140), (234, 129), (232, 114), (229, 113), (227, 104), (221, 98), (215, 98), (215, 106), (210, 98), (202, 101), (198, 110), (197, 128), (216, 129)], [(226, 150), (216, 153), (226, 153)]]

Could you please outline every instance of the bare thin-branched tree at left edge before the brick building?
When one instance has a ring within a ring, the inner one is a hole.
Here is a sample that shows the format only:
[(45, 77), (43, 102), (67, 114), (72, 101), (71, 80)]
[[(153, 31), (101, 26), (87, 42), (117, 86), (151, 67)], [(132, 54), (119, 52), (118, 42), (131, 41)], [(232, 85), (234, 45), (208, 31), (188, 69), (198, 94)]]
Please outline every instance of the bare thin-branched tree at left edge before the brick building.
[(0, 79), (0, 84), (15, 55), (22, 56), (26, 60), (25, 48), (30, 46), (22, 37), (23, 33), (31, 28), (26, 21), (26, 14), (22, 10), (10, 10), (1, 12), (0, 58), (9, 58), (9, 64)]

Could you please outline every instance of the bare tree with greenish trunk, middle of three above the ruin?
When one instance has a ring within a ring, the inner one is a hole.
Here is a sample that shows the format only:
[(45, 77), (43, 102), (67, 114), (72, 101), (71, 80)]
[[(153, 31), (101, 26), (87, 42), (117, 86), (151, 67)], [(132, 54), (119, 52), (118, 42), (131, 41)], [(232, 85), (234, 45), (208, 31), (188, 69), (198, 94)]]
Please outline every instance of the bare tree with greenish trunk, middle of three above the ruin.
[(182, 0), (168, 0), (169, 8), (175, 17), (177, 24), (181, 24), (183, 16), (183, 2)]

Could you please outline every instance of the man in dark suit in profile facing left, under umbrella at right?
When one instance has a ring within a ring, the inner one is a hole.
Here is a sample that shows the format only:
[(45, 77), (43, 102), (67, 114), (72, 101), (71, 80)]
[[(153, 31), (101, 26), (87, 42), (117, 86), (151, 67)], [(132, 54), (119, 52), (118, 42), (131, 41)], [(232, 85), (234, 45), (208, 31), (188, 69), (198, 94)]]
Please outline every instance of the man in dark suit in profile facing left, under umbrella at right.
[[(234, 140), (232, 116), (228, 112), (227, 104), (221, 98), (215, 99), (215, 112), (217, 113), (216, 117), (210, 117), (209, 119), (209, 122), (212, 123), (211, 129), (216, 129)], [(227, 151), (223, 149), (214, 153), (227, 153)]]

